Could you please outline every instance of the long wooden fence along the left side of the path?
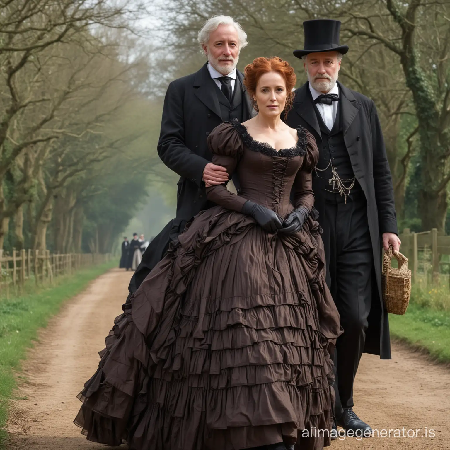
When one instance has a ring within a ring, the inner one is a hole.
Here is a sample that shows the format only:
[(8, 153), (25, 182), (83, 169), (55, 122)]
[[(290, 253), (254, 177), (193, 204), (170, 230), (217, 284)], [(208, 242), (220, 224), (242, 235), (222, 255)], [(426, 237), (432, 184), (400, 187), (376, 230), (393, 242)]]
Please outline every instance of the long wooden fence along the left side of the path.
[[(0, 295), (9, 288), (21, 287), (27, 280), (36, 284), (52, 283), (54, 278), (70, 275), (83, 267), (108, 262), (111, 255), (96, 253), (50, 253), (49, 250), (13, 250), (11, 254), (0, 249)], [(3, 291), (3, 292), (2, 292)]]

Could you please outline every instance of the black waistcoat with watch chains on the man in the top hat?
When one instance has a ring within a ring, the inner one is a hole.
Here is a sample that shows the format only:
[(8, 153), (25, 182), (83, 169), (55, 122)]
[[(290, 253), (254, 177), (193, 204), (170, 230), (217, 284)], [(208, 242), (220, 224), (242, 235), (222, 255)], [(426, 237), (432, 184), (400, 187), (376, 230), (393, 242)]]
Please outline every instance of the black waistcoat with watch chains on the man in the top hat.
[[(329, 166), (331, 159), (333, 167), (336, 168), (336, 171), (338, 172), (341, 180), (344, 182), (344, 185), (350, 187), (351, 182), (346, 182), (345, 180), (352, 180), (355, 177), (355, 174), (351, 166), (350, 156), (348, 154), (347, 147), (344, 142), (344, 135), (342, 133), (341, 102), (339, 101), (336, 119), (331, 130), (329, 130), (325, 125), (316, 106), (314, 106), (314, 111), (316, 113), (317, 120), (319, 121), (320, 134), (322, 136), (322, 142), (318, 143), (319, 161), (317, 163), (317, 168), (324, 170), (328, 166), (328, 168), (323, 172), (317, 171), (317, 176), (327, 180), (333, 176), (331, 173), (331, 166)], [(333, 186), (327, 184), (326, 189), (332, 191)], [(355, 180), (355, 185), (351, 189), (351, 192), (353, 193), (359, 189), (360, 185), (358, 181)]]

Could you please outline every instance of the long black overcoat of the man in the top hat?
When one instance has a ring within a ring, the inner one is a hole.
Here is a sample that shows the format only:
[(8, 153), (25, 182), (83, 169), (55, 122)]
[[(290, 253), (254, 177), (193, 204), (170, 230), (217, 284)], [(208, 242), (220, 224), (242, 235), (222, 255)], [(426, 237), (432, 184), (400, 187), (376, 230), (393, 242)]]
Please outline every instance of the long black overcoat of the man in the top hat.
[[(342, 111), (344, 142), (350, 156), (351, 166), (367, 200), (367, 217), (374, 252), (374, 274), (377, 292), (374, 292), (366, 331), (365, 352), (391, 358), (389, 323), (381, 295), (381, 267), (383, 233), (397, 233), (392, 177), (386, 157), (383, 133), (374, 102), (359, 92), (346, 88), (340, 82), (339, 101)], [(297, 89), (293, 108), (286, 117), (289, 126), (304, 126), (321, 144), (319, 122), (306, 82)], [(319, 223), (324, 217), (325, 188), (327, 180), (313, 178), (315, 208), (319, 211)], [(375, 301), (378, 300), (378, 301)]]

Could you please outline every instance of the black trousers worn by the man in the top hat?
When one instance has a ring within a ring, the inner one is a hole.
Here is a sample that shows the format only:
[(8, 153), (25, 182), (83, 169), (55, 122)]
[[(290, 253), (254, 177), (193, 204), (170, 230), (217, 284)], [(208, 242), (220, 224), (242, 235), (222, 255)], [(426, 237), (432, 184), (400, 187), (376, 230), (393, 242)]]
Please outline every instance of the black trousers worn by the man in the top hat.
[[(372, 302), (374, 258), (364, 193), (344, 198), (327, 192), (324, 217), (326, 281), (341, 316), (344, 332), (334, 355), (334, 415), (353, 407), (353, 382), (364, 349)], [(374, 286), (376, 289), (376, 286)]]

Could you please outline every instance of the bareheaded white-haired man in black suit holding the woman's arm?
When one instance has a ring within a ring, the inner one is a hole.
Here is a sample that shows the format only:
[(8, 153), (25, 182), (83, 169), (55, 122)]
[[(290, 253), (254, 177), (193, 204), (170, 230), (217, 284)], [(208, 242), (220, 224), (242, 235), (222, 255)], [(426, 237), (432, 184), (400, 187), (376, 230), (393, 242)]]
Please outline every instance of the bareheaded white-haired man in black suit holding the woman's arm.
[[(176, 218), (148, 245), (130, 281), (130, 295), (162, 259), (187, 221), (213, 206), (207, 201), (205, 183), (228, 181), (226, 169), (211, 163), (208, 135), (223, 121), (243, 122), (252, 115), (243, 74), (236, 69), (239, 53), (247, 45), (242, 27), (229, 16), (213, 16), (198, 32), (198, 43), (208, 61), (198, 72), (172, 81), (167, 88), (157, 148), (162, 162), (180, 175)], [(236, 175), (232, 182), (239, 192)]]

